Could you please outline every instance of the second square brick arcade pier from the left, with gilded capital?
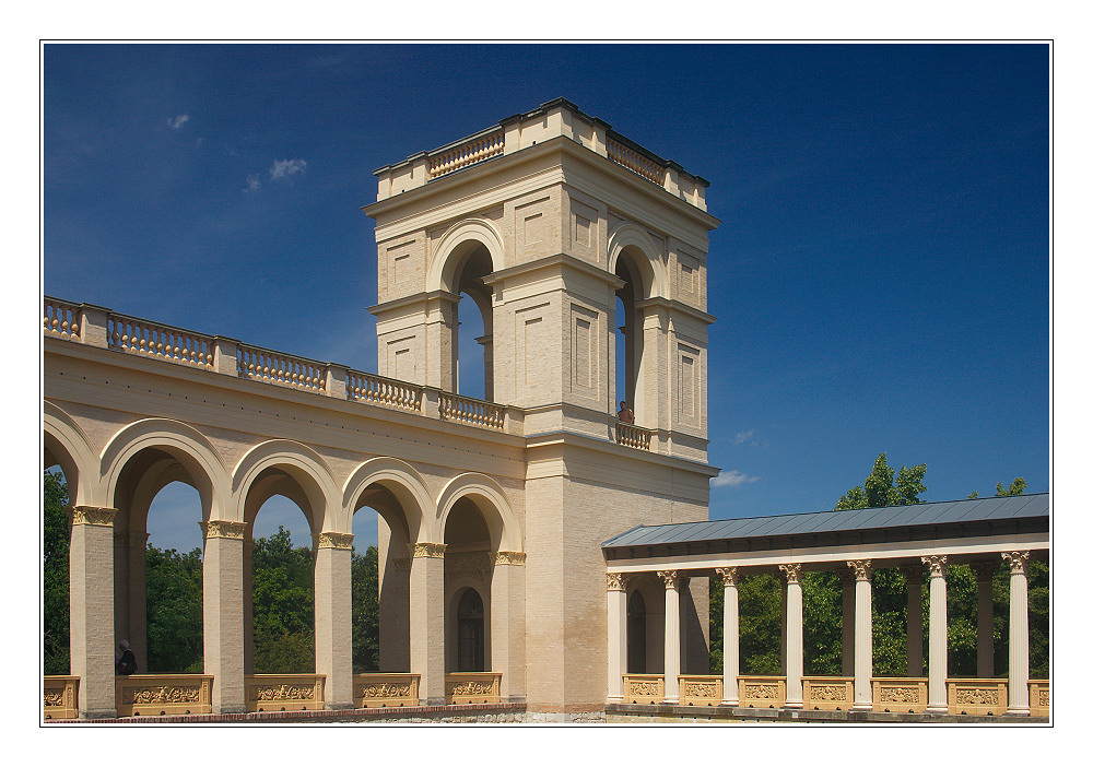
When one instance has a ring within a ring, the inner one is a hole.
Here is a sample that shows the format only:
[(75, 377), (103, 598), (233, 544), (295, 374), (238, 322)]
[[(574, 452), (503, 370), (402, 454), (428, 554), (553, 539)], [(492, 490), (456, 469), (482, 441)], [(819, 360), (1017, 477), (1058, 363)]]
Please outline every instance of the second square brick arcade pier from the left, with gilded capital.
[(204, 528), (202, 615), (204, 672), (213, 713), (243, 713), (243, 522), (210, 520)]

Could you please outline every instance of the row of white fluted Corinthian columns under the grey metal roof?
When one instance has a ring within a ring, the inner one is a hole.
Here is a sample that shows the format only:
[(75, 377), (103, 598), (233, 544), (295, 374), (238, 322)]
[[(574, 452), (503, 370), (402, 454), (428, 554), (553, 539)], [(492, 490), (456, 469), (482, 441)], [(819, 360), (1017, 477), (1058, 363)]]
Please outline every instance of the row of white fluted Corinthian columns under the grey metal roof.
[[(1009, 695), (1006, 713), (1027, 716), (1029, 701), (1029, 551), (1001, 553), (1001, 565), (1010, 575), (1009, 620)], [(907, 575), (907, 676), (922, 674), (922, 593), (921, 578), (929, 586), (929, 669), (928, 713), (948, 713), (948, 599), (947, 576), (949, 557), (927, 555), (920, 557), (921, 566), (902, 569)], [(980, 677), (994, 676), (994, 604), (991, 575), (995, 565), (974, 563), (977, 580), (977, 672)], [(679, 590), (686, 583), (687, 573), (682, 569), (660, 569), (657, 575), (665, 583), (665, 704), (680, 703), (680, 628)], [(777, 566), (784, 585), (784, 672), (786, 696), (784, 707), (801, 709), (804, 706), (804, 625), (801, 576), (802, 563), (784, 563)], [(843, 573), (843, 673), (854, 678), (851, 710), (873, 710), (872, 691), (872, 574), (873, 559), (846, 560)], [(716, 568), (725, 589), (724, 606), (724, 666), (722, 706), (740, 706), (738, 677), (740, 676), (740, 611), (738, 587), (747, 567), (728, 565)], [(695, 570), (708, 575), (708, 570)], [(634, 573), (608, 574), (608, 703), (623, 703), (623, 675), (626, 665), (626, 588)]]

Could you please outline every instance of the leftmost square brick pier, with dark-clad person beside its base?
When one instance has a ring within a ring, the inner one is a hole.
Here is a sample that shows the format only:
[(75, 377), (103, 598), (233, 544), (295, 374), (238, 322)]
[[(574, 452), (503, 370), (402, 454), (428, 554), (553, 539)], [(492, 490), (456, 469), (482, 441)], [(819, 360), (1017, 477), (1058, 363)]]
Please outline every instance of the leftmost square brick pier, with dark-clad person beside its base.
[(80, 718), (117, 716), (114, 699), (114, 515), (72, 507), (69, 544), (69, 663), (80, 677)]

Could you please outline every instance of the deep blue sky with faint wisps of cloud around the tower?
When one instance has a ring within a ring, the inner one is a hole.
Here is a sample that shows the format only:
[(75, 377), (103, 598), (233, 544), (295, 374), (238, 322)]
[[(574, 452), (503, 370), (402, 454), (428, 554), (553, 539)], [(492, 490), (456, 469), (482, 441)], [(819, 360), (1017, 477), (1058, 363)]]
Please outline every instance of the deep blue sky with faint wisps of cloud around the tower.
[(710, 181), (712, 517), (831, 508), (881, 451), (928, 465), (928, 500), (1044, 492), (1048, 64), (1046, 45), (47, 45), (44, 287), (375, 370), (373, 169), (564, 96)]

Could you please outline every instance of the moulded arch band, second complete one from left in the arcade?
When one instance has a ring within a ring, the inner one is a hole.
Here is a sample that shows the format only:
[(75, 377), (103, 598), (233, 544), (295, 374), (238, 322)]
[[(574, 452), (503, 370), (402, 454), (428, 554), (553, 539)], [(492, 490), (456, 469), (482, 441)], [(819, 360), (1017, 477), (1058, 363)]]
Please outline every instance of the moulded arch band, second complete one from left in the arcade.
[(273, 467), (290, 474), (307, 496), (312, 507), (307, 521), (313, 533), (350, 532), (338, 527), (340, 498), (333, 472), (318, 452), (294, 439), (270, 439), (250, 448), (239, 459), (235, 471), (232, 472), (235, 503), (232, 505), (233, 516), (227, 521), (246, 520), (244, 506), (250, 486), (259, 474)]

